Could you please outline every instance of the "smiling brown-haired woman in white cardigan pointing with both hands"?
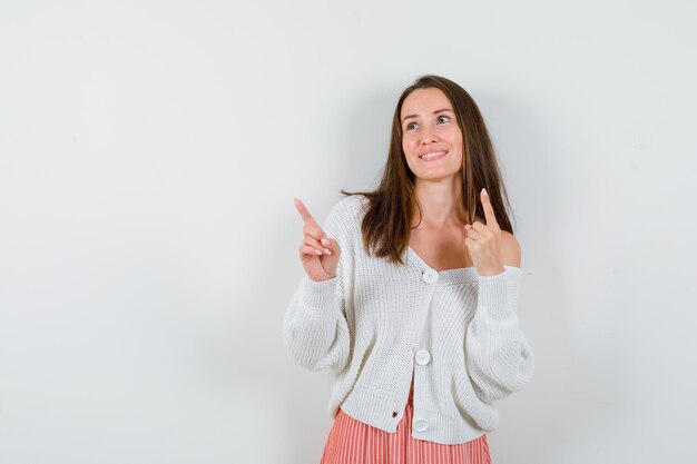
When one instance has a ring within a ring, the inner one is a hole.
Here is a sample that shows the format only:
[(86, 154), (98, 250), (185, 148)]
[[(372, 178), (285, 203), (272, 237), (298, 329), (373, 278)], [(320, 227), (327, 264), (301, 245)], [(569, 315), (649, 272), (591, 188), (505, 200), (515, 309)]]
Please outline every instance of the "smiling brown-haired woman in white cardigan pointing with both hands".
[[(401, 95), (382, 181), (321, 227), (284, 318), (291, 357), (332, 368), (322, 464), (490, 463), (492, 402), (532, 378), (517, 310), (521, 251), (477, 103), (423, 76)], [(509, 206), (510, 208), (510, 206)]]

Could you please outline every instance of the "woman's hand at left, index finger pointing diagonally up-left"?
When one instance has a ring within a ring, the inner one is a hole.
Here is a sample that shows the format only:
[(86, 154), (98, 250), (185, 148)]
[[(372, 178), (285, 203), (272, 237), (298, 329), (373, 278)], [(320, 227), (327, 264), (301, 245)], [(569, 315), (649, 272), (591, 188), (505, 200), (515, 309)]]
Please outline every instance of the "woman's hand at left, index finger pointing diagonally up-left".
[(303, 243), (300, 247), (300, 257), (307, 276), (315, 282), (328, 280), (336, 276), (336, 266), (341, 256), (338, 241), (328, 238), (322, 227), (315, 221), (303, 203), (295, 198), (295, 208), (301, 214), (303, 223)]

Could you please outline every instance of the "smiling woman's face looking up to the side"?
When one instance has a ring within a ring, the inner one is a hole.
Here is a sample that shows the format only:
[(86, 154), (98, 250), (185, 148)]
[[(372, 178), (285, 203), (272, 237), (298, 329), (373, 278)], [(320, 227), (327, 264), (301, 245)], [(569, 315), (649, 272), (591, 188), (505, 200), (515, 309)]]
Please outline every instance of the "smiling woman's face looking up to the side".
[(455, 176), (462, 167), (462, 131), (441, 89), (416, 89), (402, 102), (402, 149), (423, 180)]

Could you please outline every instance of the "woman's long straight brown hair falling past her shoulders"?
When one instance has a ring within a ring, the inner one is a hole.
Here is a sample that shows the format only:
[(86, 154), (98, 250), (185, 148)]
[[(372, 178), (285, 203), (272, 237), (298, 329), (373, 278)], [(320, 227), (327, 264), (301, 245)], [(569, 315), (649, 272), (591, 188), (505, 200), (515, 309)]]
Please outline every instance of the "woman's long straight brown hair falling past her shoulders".
[[(444, 77), (426, 75), (419, 77), (409, 86), (397, 100), (392, 120), (390, 151), (382, 180), (372, 191), (345, 191), (344, 195), (364, 195), (370, 200), (361, 224), (365, 249), (371, 254), (387, 257), (393, 263), (404, 264), (402, 255), (409, 246), (411, 224), (416, 204), (414, 196), (414, 174), (406, 165), (402, 150), (402, 125), (400, 121), (402, 103), (411, 92), (425, 88), (441, 89), (455, 111), (458, 125), (462, 131), (462, 206), (468, 224), (475, 216), (484, 218), (480, 191), (487, 189), (493, 206), (497, 221), (502, 230), (513, 234), (507, 208), (510, 203), (501, 178), (489, 132), (481, 112), (472, 97), (458, 83)], [(505, 199), (505, 204), (504, 200)], [(418, 206), (418, 205), (416, 205)]]

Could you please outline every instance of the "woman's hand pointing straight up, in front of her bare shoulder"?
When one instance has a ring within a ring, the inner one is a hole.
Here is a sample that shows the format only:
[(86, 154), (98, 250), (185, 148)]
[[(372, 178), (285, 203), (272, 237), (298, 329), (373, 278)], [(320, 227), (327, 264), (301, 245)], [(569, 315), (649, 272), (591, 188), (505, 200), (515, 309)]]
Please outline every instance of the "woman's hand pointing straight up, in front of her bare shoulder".
[(501, 229), (489, 201), (489, 194), (482, 188), (480, 195), (487, 224), (479, 220), (475, 220), (473, 225), (467, 224), (464, 245), (470, 250), (477, 273), (480, 276), (495, 276), (505, 270), (501, 256)]

